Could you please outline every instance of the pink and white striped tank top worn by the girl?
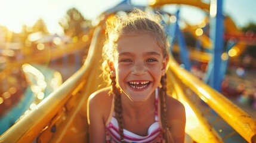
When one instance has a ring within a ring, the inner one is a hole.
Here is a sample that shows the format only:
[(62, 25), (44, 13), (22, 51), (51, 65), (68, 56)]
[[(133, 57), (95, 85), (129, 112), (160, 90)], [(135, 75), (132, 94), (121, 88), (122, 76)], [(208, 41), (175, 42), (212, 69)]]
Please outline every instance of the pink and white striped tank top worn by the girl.
[[(155, 94), (155, 122), (150, 125), (147, 130), (147, 136), (136, 135), (124, 129), (124, 141), (125, 142), (164, 142), (162, 139), (162, 129), (158, 120), (158, 88), (156, 88)], [(114, 105), (114, 104), (112, 104)], [(106, 141), (109, 143), (121, 142), (119, 135), (118, 121), (115, 119), (115, 113), (113, 113), (113, 107), (110, 112), (113, 114), (109, 121), (106, 122)]]

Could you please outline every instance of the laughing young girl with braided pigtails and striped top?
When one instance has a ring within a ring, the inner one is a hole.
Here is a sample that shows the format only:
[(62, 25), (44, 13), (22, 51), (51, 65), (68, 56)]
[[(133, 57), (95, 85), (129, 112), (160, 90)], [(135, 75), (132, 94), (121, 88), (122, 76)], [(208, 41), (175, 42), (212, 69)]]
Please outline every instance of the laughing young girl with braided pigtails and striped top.
[(134, 10), (106, 22), (111, 86), (88, 100), (90, 142), (184, 142), (181, 102), (166, 95), (168, 42), (159, 15)]

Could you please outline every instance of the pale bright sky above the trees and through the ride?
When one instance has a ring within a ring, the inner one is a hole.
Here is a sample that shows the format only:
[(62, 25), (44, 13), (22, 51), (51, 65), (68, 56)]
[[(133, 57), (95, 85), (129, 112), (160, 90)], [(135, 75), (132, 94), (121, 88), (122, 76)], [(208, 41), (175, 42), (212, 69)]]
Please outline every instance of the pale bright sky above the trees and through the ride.
[[(39, 18), (47, 24), (50, 33), (63, 34), (58, 24), (70, 8), (92, 20), (122, 0), (0, 0), (0, 26), (20, 32), (23, 24), (33, 26)], [(195, 0), (194, 0), (195, 1)], [(209, 1), (209, 0), (204, 0)], [(148, 0), (132, 0), (132, 4), (147, 5)], [(223, 12), (229, 15), (236, 26), (243, 27), (250, 22), (256, 23), (255, 0), (223, 0)], [(175, 12), (175, 10), (170, 10)], [(181, 8), (181, 17), (192, 24), (202, 20), (204, 14), (199, 8)]]

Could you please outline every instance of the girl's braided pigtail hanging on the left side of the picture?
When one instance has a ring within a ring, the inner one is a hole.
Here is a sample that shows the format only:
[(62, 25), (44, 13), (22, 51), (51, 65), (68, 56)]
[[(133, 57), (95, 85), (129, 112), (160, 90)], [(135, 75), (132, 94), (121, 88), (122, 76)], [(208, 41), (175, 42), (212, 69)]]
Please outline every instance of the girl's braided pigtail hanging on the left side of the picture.
[(112, 93), (115, 96), (115, 117), (118, 120), (119, 134), (121, 142), (124, 142), (124, 119), (122, 116), (122, 105), (121, 105), (121, 94), (119, 89), (116, 87), (116, 77), (111, 76)]

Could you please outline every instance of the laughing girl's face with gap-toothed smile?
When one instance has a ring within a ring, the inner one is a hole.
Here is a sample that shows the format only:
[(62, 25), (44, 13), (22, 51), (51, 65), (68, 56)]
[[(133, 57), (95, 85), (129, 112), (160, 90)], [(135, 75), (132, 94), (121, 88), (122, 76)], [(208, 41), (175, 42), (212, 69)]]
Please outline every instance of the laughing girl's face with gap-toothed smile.
[(146, 101), (160, 85), (168, 58), (152, 35), (125, 35), (118, 40), (114, 74), (122, 95), (134, 102)]

